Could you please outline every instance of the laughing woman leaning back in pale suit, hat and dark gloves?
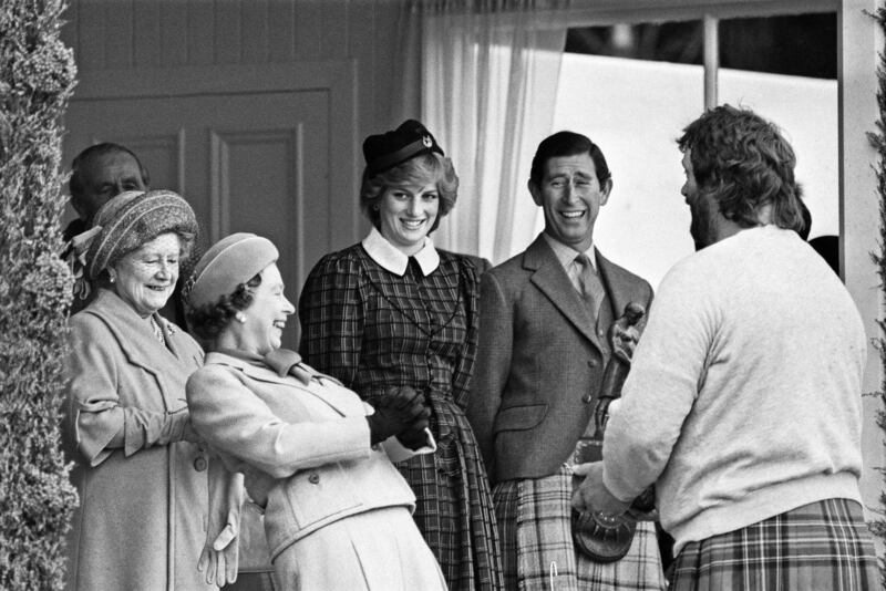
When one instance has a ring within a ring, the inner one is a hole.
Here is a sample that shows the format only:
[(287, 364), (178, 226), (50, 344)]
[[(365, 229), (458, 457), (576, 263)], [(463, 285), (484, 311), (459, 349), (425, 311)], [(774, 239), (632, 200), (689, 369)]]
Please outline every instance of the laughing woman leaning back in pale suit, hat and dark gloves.
[(280, 349), (295, 307), (277, 257), (266, 238), (235, 234), (185, 287), (188, 324), (208, 350), (187, 383), (195, 428), (265, 508), (282, 589), (444, 590), (410, 515), (415, 497), (389, 459), (434, 450), (429, 409), (415, 391), (391, 388), (373, 411)]

